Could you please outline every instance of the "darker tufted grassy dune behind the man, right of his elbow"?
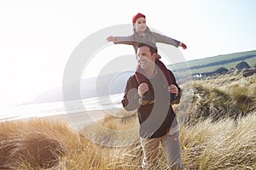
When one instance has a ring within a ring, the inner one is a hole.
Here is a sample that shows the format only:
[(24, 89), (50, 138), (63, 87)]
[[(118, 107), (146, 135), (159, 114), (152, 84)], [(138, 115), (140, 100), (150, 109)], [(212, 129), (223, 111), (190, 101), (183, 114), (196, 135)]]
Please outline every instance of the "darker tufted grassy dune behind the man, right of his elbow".
[[(188, 85), (189, 84), (189, 85)], [(188, 82), (183, 85), (178, 108), (183, 123), (212, 122), (224, 118), (236, 120), (256, 111), (256, 74), (252, 77), (220, 76)]]

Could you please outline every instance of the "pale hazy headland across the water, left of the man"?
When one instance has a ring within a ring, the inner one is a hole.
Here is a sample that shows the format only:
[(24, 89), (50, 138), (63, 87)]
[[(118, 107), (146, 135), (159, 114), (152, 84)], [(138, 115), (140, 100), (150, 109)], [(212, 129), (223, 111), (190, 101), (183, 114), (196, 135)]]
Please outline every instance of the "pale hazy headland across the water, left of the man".
[[(113, 73), (101, 77), (84, 78), (79, 81), (81, 99), (102, 97), (111, 94), (120, 94), (125, 90), (125, 82), (131, 76), (132, 71), (124, 71), (121, 74)], [(76, 83), (76, 82), (74, 82)], [(67, 85), (68, 100), (77, 99), (73, 96), (74, 84)], [(32, 103), (56, 102), (62, 100), (62, 88), (54, 88), (44, 94), (38, 95)]]

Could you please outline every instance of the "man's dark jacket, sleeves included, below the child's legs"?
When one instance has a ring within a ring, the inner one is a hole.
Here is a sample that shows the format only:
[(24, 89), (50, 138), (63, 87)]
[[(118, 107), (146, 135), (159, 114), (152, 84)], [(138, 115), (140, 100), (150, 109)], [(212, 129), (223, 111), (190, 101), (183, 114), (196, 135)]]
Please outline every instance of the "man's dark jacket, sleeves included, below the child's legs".
[[(168, 92), (166, 77), (156, 68), (155, 77), (148, 79), (149, 91), (154, 95), (153, 105), (139, 105), (140, 96), (137, 94), (138, 82), (135, 75), (129, 77), (125, 86), (125, 95), (122, 105), (126, 111), (137, 109), (138, 120), (140, 123), (139, 134), (142, 138), (159, 138), (164, 136), (171, 128), (176, 115), (172, 110), (171, 94)], [(172, 82), (177, 86), (179, 95), (181, 88), (178, 87), (176, 78), (170, 71)]]

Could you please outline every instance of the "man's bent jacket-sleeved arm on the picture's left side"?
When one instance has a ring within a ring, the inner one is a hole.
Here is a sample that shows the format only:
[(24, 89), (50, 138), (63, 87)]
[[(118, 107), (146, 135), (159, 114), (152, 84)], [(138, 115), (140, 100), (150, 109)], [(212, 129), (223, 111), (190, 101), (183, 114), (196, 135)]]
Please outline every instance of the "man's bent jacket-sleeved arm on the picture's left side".
[(135, 76), (131, 76), (126, 82), (125, 95), (121, 101), (126, 111), (134, 111), (139, 108), (138, 99), (140, 98), (137, 93), (138, 83)]

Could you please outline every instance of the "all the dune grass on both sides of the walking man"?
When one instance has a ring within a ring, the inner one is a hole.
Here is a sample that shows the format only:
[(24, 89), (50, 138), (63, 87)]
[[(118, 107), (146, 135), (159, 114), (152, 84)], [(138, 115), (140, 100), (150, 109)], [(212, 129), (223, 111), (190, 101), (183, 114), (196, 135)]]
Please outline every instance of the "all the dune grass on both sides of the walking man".
[[(174, 109), (185, 169), (256, 169), (255, 80), (221, 76), (183, 85)], [(79, 131), (39, 118), (0, 122), (0, 169), (140, 169), (136, 112), (111, 112)], [(162, 148), (155, 169), (166, 169)]]

